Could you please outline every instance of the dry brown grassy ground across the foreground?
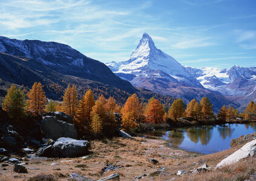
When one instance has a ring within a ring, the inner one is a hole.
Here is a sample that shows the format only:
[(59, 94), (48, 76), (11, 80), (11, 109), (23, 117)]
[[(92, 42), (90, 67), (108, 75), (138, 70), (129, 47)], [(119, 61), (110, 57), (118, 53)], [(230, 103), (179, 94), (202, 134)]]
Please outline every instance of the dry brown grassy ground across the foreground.
[[(8, 164), (7, 167), (0, 168), (0, 180), (27, 180), (29, 177), (39, 174), (52, 174), (57, 180), (68, 180), (72, 173), (78, 173), (94, 180), (113, 173), (119, 173), (121, 180), (136, 180), (135, 177), (142, 174), (149, 174), (150, 180), (171, 180), (174, 178), (174, 180), (180, 180), (188, 174), (177, 176), (178, 170), (189, 172), (205, 163), (208, 167), (215, 167), (225, 156), (234, 153), (248, 141), (250, 139), (239, 145), (234, 145), (229, 150), (208, 155), (169, 147), (161, 139), (136, 137), (134, 139), (113, 138), (111, 140), (91, 141), (90, 151), (92, 154), (85, 159), (82, 157), (27, 158), (27, 160), (22, 161), (27, 163), (24, 165), (28, 170), (27, 174), (15, 173), (13, 165)], [(21, 157), (18, 158), (21, 159)], [(159, 163), (153, 164), (149, 159), (156, 159)], [(110, 169), (107, 168), (107, 165)], [(149, 177), (140, 180), (149, 180)]]

